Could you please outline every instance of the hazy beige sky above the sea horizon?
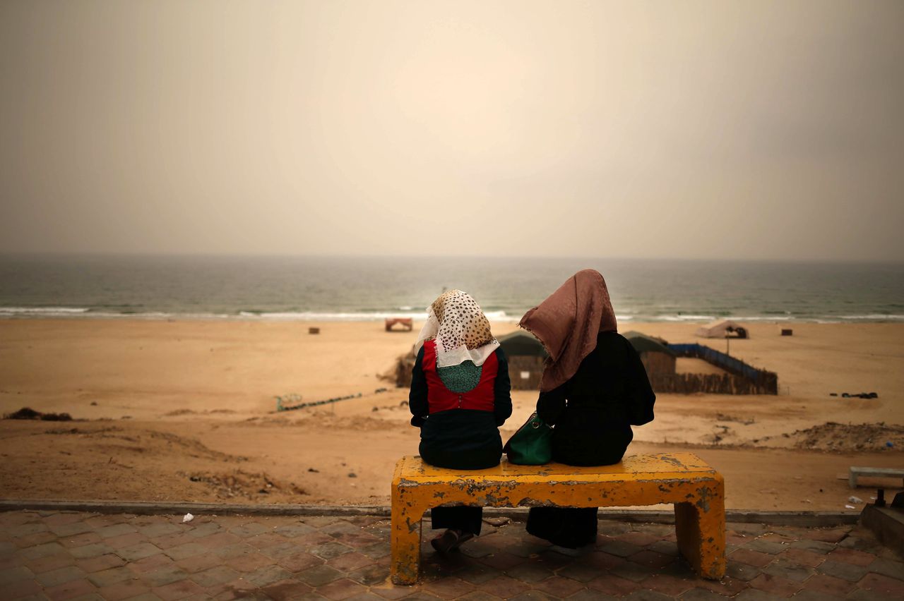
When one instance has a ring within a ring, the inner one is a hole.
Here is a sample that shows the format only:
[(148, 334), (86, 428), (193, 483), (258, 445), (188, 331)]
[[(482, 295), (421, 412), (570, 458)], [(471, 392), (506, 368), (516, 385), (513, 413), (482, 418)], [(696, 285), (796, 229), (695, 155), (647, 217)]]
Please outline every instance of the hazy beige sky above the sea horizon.
[(904, 2), (0, 4), (0, 252), (904, 260)]

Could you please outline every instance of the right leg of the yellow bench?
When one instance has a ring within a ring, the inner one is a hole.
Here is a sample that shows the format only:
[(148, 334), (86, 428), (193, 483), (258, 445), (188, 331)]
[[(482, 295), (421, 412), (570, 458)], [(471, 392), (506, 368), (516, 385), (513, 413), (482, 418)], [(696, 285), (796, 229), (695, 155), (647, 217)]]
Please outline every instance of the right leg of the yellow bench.
[(694, 503), (675, 504), (675, 534), (684, 559), (702, 578), (725, 576), (725, 506), (721, 495), (705, 509)]

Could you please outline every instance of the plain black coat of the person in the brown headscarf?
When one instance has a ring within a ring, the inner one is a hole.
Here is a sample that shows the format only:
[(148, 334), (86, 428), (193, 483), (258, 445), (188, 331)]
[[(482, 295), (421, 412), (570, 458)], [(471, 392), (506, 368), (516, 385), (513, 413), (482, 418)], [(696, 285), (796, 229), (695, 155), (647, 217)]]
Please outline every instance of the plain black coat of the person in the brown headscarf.
[(541, 393), (537, 412), (554, 426), (552, 458), (571, 466), (618, 463), (634, 438), (631, 426), (653, 420), (656, 396), (634, 347), (602, 332), (568, 382)]

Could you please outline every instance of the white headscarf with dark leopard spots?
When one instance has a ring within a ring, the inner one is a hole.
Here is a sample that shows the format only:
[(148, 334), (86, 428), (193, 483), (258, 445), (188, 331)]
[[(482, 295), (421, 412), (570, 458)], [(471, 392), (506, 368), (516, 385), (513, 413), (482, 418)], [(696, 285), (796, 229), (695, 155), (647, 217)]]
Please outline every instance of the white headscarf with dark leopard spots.
[(433, 339), (437, 341), (438, 367), (465, 361), (484, 365), (486, 357), (499, 347), (484, 311), (468, 293), (460, 290), (445, 291), (430, 305), (415, 352), (425, 340)]

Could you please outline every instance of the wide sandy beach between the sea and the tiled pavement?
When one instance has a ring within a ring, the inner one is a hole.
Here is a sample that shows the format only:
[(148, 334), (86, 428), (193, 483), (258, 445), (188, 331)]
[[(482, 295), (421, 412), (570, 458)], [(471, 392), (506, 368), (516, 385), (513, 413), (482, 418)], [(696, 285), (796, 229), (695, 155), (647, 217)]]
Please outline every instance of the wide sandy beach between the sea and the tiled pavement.
[[(697, 327), (620, 325), (725, 350), (695, 338)], [(871, 487), (852, 491), (843, 477), (852, 465), (904, 467), (904, 324), (781, 327), (794, 336), (755, 322), (750, 339), (730, 343), (732, 356), (777, 372), (777, 396), (660, 394), (628, 453), (691, 449), (725, 476), (731, 508), (869, 501)], [(494, 334), (514, 328), (497, 323)], [(415, 337), (372, 321), (0, 320), (0, 412), (74, 420), (0, 421), (2, 496), (388, 504), (391, 468), (417, 453), (419, 432), (408, 391), (381, 375)], [(862, 392), (879, 396), (841, 397)], [(291, 394), (354, 398), (277, 412), (276, 397)], [(513, 393), (504, 437), (535, 400)]]

